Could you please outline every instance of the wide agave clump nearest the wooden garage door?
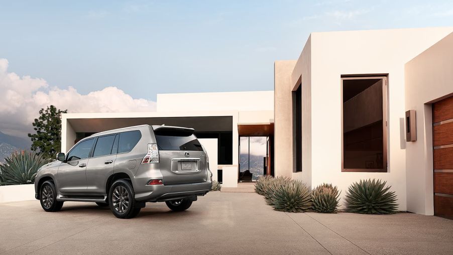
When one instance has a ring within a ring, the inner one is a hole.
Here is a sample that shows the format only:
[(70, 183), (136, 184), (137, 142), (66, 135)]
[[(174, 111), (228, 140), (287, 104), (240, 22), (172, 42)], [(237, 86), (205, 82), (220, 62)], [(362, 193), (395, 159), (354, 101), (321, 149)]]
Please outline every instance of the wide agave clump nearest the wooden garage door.
[(346, 193), (346, 208), (350, 212), (369, 214), (394, 213), (396, 204), (395, 192), (390, 192), (391, 186), (381, 180), (360, 180), (355, 182)]

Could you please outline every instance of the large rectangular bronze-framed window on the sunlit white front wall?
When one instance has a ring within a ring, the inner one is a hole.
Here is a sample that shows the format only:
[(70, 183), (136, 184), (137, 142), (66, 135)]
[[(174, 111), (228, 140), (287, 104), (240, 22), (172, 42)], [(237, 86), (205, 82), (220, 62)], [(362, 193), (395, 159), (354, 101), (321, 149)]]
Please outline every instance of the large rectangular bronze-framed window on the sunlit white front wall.
[(342, 78), (345, 172), (387, 172), (387, 78)]

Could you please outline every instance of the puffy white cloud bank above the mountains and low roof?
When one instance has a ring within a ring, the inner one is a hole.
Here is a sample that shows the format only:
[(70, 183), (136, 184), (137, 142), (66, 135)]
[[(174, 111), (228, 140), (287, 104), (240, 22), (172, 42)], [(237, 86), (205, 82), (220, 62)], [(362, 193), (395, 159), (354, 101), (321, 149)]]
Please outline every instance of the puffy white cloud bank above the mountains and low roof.
[(55, 105), (68, 112), (154, 111), (156, 103), (135, 99), (117, 87), (106, 87), (86, 95), (73, 87), (50, 87), (41, 78), (20, 77), (8, 72), (8, 60), (0, 59), (0, 131), (15, 136), (32, 132), (32, 122), (41, 108)]

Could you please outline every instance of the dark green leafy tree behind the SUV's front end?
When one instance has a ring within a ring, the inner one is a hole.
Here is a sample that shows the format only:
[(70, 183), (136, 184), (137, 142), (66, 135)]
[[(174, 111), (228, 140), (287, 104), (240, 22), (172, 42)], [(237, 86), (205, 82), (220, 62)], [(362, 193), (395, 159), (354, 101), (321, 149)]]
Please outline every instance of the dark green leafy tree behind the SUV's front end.
[(32, 140), (32, 151), (42, 153), (46, 158), (54, 158), (61, 150), (61, 113), (68, 110), (57, 109), (54, 105), (39, 110), (39, 118), (35, 118), (33, 129), (36, 134), (28, 134)]

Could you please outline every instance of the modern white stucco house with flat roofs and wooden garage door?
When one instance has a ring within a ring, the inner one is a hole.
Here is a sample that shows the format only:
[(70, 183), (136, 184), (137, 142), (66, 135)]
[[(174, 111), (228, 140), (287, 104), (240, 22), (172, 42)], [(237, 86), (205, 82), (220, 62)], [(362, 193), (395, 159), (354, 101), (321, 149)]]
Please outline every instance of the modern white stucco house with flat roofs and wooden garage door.
[[(252, 168), (251, 176), (332, 183), (342, 195), (352, 182), (380, 178), (399, 210), (451, 217), (452, 33), (312, 33), (298, 59), (275, 62), (274, 91), (158, 94), (155, 112), (63, 114), (62, 151), (124, 126), (189, 126), (216, 156), (224, 187), (253, 180), (244, 175)], [(261, 159), (251, 155), (254, 137), (266, 141)]]

